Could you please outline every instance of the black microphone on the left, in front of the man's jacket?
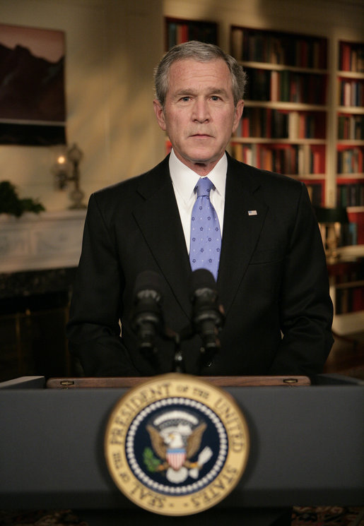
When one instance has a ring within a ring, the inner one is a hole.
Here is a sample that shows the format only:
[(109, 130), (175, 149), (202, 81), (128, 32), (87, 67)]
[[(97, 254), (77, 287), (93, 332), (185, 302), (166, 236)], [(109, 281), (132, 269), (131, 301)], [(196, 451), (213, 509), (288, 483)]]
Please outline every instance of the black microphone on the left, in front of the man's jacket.
[(157, 351), (155, 337), (163, 332), (163, 281), (153, 270), (144, 270), (136, 277), (131, 328), (136, 333), (141, 352), (151, 357)]

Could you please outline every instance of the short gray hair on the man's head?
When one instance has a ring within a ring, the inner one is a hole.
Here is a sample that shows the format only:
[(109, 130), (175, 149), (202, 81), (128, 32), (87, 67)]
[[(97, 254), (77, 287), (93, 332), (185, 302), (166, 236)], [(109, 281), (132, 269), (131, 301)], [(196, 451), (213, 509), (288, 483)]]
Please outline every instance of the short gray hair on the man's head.
[(233, 56), (224, 53), (220, 47), (214, 44), (190, 40), (189, 42), (184, 42), (184, 44), (172, 47), (155, 68), (155, 97), (162, 107), (164, 107), (165, 96), (168, 91), (170, 66), (172, 66), (173, 62), (184, 59), (194, 59), (200, 62), (222, 59), (230, 71), (235, 106), (244, 97), (247, 76), (242, 66), (237, 64)]

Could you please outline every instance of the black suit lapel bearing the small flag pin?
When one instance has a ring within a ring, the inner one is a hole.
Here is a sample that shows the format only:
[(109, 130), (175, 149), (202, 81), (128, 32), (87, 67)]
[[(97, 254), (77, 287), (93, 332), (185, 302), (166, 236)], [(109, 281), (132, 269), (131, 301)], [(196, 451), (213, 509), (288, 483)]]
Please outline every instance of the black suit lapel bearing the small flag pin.
[(259, 184), (249, 174), (249, 168), (246, 167), (245, 173), (241, 167), (240, 163), (228, 157), (218, 274), (218, 289), (225, 313), (228, 313), (245, 275), (268, 210), (259, 199)]

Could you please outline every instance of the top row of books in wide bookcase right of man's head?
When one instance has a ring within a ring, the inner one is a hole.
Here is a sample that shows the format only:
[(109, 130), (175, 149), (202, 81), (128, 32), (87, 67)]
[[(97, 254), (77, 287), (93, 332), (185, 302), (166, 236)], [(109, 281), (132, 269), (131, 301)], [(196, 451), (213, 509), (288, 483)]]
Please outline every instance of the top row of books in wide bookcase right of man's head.
[(327, 40), (290, 33), (233, 28), (231, 50), (240, 61), (327, 68)]

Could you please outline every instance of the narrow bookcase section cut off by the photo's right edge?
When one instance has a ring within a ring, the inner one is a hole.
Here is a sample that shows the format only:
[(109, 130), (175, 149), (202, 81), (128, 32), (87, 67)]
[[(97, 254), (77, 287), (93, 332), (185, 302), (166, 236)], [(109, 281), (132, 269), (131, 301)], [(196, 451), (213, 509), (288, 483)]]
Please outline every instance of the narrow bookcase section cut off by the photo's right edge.
[[(364, 244), (364, 43), (337, 40), (334, 84), (336, 202), (346, 207), (350, 224), (347, 245)], [(351, 258), (331, 283), (334, 329), (363, 327), (364, 261)]]

